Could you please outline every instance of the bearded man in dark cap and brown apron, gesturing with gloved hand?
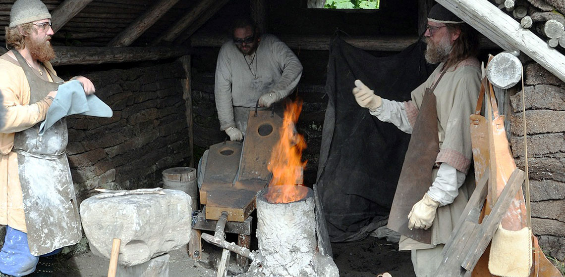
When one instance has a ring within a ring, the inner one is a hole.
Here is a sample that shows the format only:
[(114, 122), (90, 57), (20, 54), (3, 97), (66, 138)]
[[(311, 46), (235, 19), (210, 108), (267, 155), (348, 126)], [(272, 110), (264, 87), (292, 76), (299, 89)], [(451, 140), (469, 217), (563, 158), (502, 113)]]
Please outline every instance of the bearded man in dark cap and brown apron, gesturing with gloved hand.
[[(357, 103), (371, 115), (412, 134), (388, 226), (402, 235), (399, 249), (412, 250), (418, 277), (433, 276), (440, 265), (441, 250), (474, 188), (469, 116), (475, 111), (481, 80), (474, 57), (477, 34), (469, 25), (435, 5), (424, 37), (425, 59), (439, 65), (412, 91), (410, 101), (381, 99), (360, 80), (353, 89)], [(415, 187), (427, 192), (415, 195)], [(406, 199), (410, 194), (414, 197)], [(399, 215), (402, 207), (395, 204), (400, 200), (415, 204), (404, 205), (406, 213)], [(396, 222), (403, 224), (395, 226)], [(414, 234), (432, 226), (431, 241), (414, 239), (419, 238)]]

